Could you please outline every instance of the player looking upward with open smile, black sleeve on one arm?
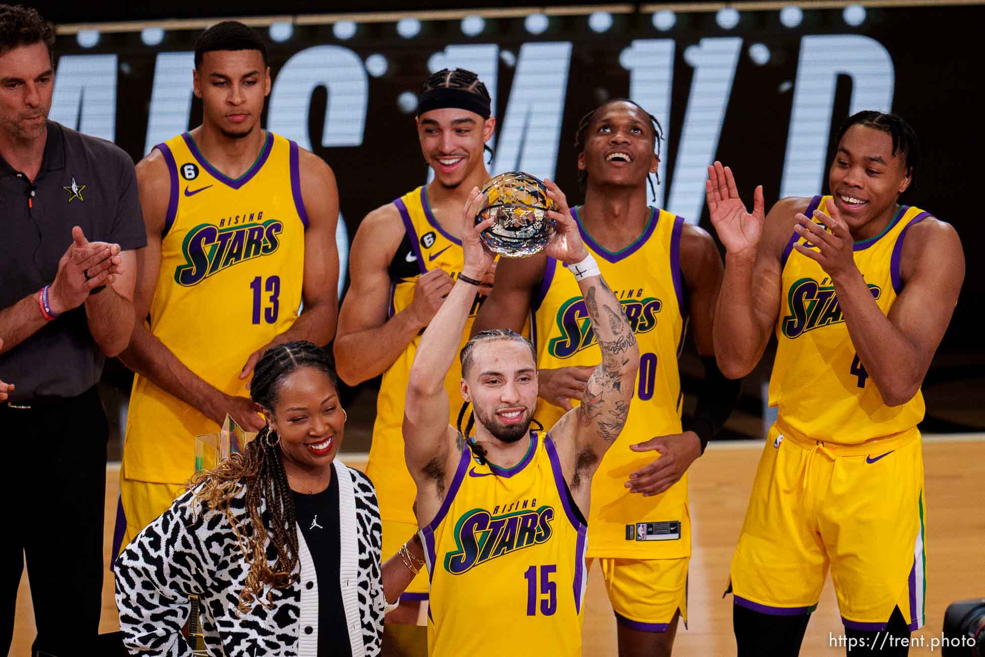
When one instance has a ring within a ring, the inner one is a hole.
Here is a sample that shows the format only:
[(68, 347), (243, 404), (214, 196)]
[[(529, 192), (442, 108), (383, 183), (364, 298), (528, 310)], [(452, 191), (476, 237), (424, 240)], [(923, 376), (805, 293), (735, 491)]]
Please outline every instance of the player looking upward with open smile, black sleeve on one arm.
[[(632, 414), (599, 466), (588, 519), (588, 557), (601, 561), (621, 655), (670, 654), (678, 619), (687, 622), (686, 473), (739, 396), (738, 382), (721, 374), (712, 351), (718, 250), (704, 230), (647, 205), (661, 138), (657, 119), (627, 99), (588, 112), (575, 134), (585, 204), (572, 215), (642, 354)], [(581, 398), (604, 356), (584, 321), (586, 300), (558, 269), (544, 255), (503, 261), (473, 326), (516, 328), (531, 313), (541, 381), (537, 417), (548, 427)], [(682, 427), (678, 355), (688, 320), (705, 375), (693, 420)]]

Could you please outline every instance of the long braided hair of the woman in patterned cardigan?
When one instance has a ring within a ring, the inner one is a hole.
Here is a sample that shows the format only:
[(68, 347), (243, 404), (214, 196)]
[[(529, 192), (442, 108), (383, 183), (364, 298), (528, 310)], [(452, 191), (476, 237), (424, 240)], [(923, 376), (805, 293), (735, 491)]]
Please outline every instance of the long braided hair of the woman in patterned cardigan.
[[(246, 582), (239, 592), (238, 613), (246, 613), (254, 600), (270, 608), (273, 589), (291, 586), (298, 559), (294, 495), (278, 446), (280, 437), (270, 425), (270, 415), (281, 382), (300, 367), (314, 367), (336, 385), (335, 370), (328, 355), (310, 342), (289, 342), (267, 350), (253, 371), (250, 397), (264, 408), (267, 426), (250, 441), (242, 453), (230, 454), (215, 469), (194, 478), (195, 500), (203, 507), (222, 510), (232, 526), (243, 558), (249, 566)], [(230, 509), (230, 500), (245, 489), (244, 503), (249, 524), (240, 527)], [(261, 514), (260, 508), (265, 506)], [(271, 567), (267, 558), (268, 539), (276, 561)], [(266, 599), (260, 596), (267, 584), (272, 589)]]

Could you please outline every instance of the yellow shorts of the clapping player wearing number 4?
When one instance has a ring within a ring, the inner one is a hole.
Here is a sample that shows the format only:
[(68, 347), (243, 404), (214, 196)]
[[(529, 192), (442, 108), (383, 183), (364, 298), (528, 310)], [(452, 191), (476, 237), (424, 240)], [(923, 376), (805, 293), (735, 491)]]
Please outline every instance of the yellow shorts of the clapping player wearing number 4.
[(735, 604), (778, 616), (810, 614), (830, 569), (846, 627), (882, 630), (898, 606), (910, 630), (917, 629), (926, 579), (923, 482), (916, 428), (835, 445), (777, 423), (732, 558)]

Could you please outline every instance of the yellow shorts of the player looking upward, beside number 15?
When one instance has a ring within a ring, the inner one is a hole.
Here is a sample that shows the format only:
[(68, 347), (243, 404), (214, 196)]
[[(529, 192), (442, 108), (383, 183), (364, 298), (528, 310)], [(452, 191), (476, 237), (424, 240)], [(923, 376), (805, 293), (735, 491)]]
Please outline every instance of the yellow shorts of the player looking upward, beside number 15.
[(689, 557), (598, 560), (617, 621), (630, 629), (663, 632), (680, 610), (688, 626)]

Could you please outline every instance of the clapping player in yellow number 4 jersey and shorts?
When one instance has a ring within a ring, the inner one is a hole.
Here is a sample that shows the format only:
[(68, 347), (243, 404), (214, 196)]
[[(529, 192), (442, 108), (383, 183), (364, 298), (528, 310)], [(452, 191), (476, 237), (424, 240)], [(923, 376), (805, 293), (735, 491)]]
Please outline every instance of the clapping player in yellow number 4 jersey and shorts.
[(855, 645), (906, 654), (899, 639), (924, 623), (920, 385), (964, 257), (950, 225), (899, 205), (918, 148), (898, 116), (854, 114), (838, 133), (831, 195), (782, 199), (765, 217), (761, 187), (749, 214), (732, 172), (708, 167), (726, 248), (715, 355), (742, 376), (770, 334), (778, 341), (779, 417), (732, 559), (740, 655), (798, 654), (828, 568)]

